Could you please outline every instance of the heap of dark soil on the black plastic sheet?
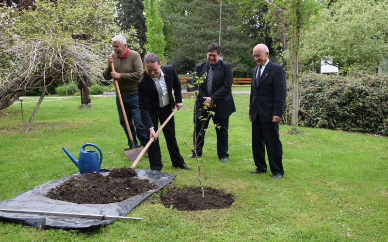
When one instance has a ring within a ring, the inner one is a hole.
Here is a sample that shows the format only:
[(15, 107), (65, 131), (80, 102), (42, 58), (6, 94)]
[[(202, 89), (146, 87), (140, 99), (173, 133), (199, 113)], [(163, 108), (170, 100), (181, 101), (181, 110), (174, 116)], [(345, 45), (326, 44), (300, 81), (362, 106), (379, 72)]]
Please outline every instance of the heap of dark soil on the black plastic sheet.
[(74, 203), (106, 204), (156, 188), (148, 180), (139, 180), (135, 176), (136, 172), (130, 167), (113, 169), (108, 176), (85, 173), (52, 188), (46, 197)]

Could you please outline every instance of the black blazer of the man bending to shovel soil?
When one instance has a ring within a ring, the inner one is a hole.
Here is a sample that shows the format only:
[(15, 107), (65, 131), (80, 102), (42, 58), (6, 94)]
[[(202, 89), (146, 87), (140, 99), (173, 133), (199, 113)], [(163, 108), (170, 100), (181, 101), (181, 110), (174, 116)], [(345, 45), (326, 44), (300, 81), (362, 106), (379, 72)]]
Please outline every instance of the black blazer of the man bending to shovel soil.
[[(179, 77), (172, 65), (163, 65), (161, 66), (161, 70), (164, 74), (164, 80), (166, 81), (167, 90), (170, 95), (171, 109), (174, 109), (176, 103), (182, 102)], [(156, 89), (154, 80), (147, 73), (137, 82), (137, 87), (142, 120), (147, 129), (150, 129), (154, 126), (151, 120), (151, 113), (156, 114), (159, 109), (158, 90)], [(172, 90), (174, 90), (175, 101)]]

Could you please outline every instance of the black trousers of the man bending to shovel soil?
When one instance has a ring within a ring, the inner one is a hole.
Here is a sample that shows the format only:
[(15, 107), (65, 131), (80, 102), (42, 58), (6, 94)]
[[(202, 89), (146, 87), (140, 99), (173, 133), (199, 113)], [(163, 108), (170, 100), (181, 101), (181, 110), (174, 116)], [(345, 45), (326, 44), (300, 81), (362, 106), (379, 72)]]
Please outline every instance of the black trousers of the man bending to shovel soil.
[[(172, 113), (172, 109), (170, 105), (159, 108), (158, 110), (150, 110), (150, 115), (152, 119), (152, 123), (154, 125), (155, 132), (158, 130), (159, 122), (162, 124), (168, 116)], [(174, 167), (182, 166), (184, 163), (183, 157), (179, 153), (179, 148), (177, 144), (177, 138), (175, 137), (175, 122), (174, 117), (167, 122), (166, 126), (164, 126), (163, 135), (166, 140), (166, 145), (168, 152), (170, 154), (171, 162)], [(148, 131), (149, 136), (149, 131)], [(159, 138), (156, 139), (148, 148), (148, 159), (149, 166), (151, 170), (153, 169), (162, 169), (162, 154), (161, 148), (159, 146)]]

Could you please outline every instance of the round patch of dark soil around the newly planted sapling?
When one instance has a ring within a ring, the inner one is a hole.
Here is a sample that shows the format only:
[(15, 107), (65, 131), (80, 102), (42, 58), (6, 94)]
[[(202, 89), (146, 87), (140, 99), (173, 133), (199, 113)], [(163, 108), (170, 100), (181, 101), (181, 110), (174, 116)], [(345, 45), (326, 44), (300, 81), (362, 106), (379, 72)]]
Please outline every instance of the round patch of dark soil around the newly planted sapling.
[(204, 187), (202, 198), (200, 187), (187, 187), (161, 196), (162, 204), (167, 208), (173, 206), (179, 211), (196, 211), (228, 208), (234, 202), (234, 196), (222, 190)]

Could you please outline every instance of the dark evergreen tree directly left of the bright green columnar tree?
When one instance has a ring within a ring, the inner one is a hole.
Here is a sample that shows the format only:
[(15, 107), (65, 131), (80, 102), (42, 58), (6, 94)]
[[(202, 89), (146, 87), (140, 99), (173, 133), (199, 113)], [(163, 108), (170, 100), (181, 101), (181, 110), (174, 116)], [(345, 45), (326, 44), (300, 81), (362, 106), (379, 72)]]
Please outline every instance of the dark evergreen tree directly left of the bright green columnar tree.
[(146, 20), (144, 17), (143, 0), (116, 0), (117, 17), (116, 22), (121, 30), (129, 30), (131, 26), (136, 29), (139, 39), (140, 55), (144, 57), (144, 45), (146, 44)]

